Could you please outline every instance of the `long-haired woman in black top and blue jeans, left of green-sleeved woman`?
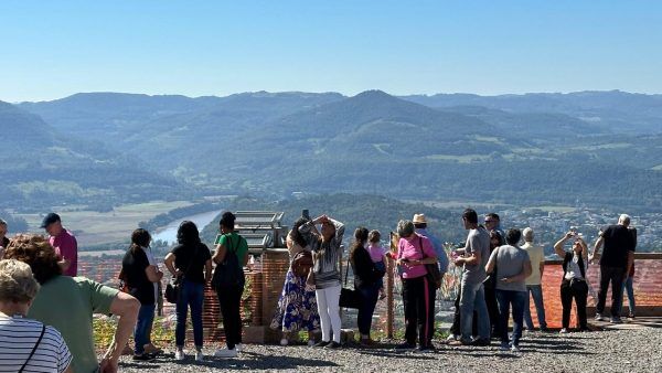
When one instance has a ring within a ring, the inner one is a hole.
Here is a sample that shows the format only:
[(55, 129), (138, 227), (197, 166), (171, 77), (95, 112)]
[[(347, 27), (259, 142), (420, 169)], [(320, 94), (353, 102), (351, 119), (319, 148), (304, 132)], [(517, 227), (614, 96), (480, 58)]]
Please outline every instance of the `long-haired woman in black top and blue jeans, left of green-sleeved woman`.
[(184, 340), (186, 337), (186, 313), (191, 307), (195, 360), (203, 361), (202, 353), (202, 301), (204, 286), (212, 278), (212, 255), (210, 248), (200, 241), (195, 223), (183, 221), (177, 231), (179, 245), (166, 256), (163, 263), (180, 283), (177, 301), (177, 328), (174, 332), (175, 360), (184, 360)]

